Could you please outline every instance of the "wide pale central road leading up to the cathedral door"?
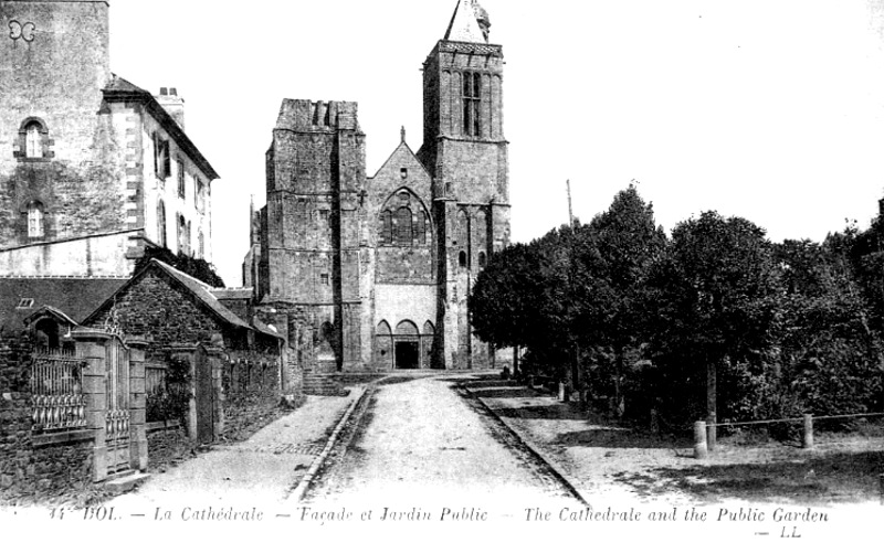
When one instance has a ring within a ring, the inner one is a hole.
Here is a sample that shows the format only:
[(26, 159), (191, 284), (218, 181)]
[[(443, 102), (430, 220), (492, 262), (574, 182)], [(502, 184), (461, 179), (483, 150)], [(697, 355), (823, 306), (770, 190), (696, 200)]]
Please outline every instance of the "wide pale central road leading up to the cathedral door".
[[(561, 500), (561, 487), (444, 377), (381, 386), (343, 459), (308, 496), (428, 508)], [(499, 424), (499, 423), (496, 423)], [(380, 500), (380, 501), (378, 501)]]

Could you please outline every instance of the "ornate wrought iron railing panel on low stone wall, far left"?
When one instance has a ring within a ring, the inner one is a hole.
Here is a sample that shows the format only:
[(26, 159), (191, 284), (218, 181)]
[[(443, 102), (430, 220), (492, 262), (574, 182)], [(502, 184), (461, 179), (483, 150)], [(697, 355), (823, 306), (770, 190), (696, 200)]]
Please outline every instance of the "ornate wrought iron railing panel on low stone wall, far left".
[(86, 427), (83, 394), (84, 361), (69, 351), (33, 354), (31, 368), (31, 427), (35, 433)]

